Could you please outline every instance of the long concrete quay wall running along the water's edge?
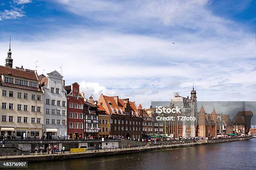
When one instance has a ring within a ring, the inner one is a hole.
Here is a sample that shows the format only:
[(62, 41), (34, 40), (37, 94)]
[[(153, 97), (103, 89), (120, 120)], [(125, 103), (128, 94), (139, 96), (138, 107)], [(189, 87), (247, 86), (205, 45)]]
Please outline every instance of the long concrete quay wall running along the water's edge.
[(96, 156), (106, 156), (106, 155), (118, 155), (118, 154), (127, 154), (127, 153), (139, 153), (139, 152), (149, 152), (156, 150), (167, 150), (167, 149), (175, 149), (175, 148), (184, 148), (190, 146), (200, 146), (207, 145), (213, 143), (223, 143), (223, 142), (231, 142), (237, 140), (247, 140), (252, 137), (243, 137), (243, 138), (230, 138), (230, 139), (216, 139), (216, 140), (207, 140), (201, 143), (189, 143), (189, 144), (166, 144), (166, 145), (158, 145), (151, 147), (136, 147), (136, 148), (118, 148), (114, 150), (100, 150), (99, 152), (87, 151), (85, 153), (65, 153), (65, 154), (54, 154), (54, 155), (17, 155), (17, 156), (6, 156), (0, 157), (0, 161), (44, 161), (44, 160), (63, 160), (63, 159), (73, 159), (73, 158), (88, 158), (88, 157), (96, 157)]

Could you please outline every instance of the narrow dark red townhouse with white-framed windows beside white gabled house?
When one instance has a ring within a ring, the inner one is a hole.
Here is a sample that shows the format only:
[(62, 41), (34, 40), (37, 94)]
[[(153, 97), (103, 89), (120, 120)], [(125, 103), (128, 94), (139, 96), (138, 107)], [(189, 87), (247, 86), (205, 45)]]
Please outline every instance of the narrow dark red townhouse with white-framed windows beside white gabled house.
[(80, 95), (79, 84), (65, 86), (67, 90), (67, 135), (72, 139), (84, 137), (84, 96)]

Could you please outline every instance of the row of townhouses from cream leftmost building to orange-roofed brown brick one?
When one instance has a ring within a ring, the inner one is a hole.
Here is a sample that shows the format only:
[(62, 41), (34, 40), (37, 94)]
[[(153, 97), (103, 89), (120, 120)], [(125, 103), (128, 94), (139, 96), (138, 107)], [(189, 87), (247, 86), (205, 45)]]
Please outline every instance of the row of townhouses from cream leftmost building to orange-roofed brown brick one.
[(0, 66), (0, 132), (15, 138), (141, 139), (142, 114), (135, 102), (100, 95), (87, 100), (77, 82), (65, 86), (56, 70), (38, 75), (36, 70), (13, 68), (8, 50)]

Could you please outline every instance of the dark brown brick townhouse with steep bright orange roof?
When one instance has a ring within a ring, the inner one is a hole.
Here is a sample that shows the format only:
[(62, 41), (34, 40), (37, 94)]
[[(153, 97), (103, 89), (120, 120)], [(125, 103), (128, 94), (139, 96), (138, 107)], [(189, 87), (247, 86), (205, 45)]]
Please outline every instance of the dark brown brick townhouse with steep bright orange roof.
[(110, 138), (141, 139), (142, 117), (135, 102), (101, 94), (97, 105), (110, 115)]

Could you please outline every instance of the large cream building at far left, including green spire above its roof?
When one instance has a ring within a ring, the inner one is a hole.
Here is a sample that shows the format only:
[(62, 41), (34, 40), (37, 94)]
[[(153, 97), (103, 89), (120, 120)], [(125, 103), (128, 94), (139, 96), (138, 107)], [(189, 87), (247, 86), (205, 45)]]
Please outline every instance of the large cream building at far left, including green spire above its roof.
[(30, 138), (42, 135), (44, 95), (38, 75), (23, 66), (13, 68), (9, 47), (5, 66), (0, 66), (0, 131), (8, 138)]

